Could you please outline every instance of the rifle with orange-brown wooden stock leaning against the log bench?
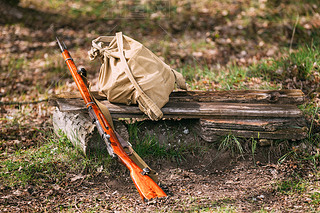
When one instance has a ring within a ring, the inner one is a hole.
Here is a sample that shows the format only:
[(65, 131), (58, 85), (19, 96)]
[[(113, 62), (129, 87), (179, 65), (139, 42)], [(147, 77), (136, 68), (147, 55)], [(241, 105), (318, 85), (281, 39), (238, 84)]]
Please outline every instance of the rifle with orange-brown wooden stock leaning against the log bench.
[[(129, 171), (130, 176), (136, 186), (142, 200), (149, 200), (155, 197), (166, 197), (166, 193), (148, 176), (149, 168), (141, 169), (125, 152), (123, 146), (119, 142), (120, 135), (112, 129), (112, 125), (103, 115), (99, 105), (90, 94), (87, 87), (87, 82), (84, 81), (86, 72), (84, 69), (78, 70), (67, 47), (64, 42), (63, 46), (57, 39), (58, 45), (61, 49), (62, 56), (71, 72), (74, 81), (81, 93), (81, 96), (86, 104), (89, 115), (96, 124), (98, 132), (107, 145), (107, 151), (113, 158), (117, 158), (123, 165), (125, 165)], [(112, 120), (111, 120), (112, 121)], [(119, 138), (118, 138), (119, 137)]]

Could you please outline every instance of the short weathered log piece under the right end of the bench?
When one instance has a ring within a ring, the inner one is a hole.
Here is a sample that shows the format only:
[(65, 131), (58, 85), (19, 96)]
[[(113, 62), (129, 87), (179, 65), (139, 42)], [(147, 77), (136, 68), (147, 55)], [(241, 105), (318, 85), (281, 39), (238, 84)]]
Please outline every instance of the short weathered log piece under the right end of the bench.
[(228, 134), (244, 138), (301, 140), (308, 132), (303, 117), (200, 119), (197, 130), (207, 142), (217, 141)]

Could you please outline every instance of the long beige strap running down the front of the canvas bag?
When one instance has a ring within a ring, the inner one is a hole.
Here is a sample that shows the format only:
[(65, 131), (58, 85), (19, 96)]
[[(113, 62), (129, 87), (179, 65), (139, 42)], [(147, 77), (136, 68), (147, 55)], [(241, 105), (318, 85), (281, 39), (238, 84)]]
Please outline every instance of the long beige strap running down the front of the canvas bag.
[(139, 107), (144, 111), (152, 120), (159, 120), (162, 118), (163, 113), (160, 108), (143, 92), (136, 80), (134, 79), (132, 72), (128, 66), (127, 60), (123, 53), (123, 36), (122, 32), (116, 33), (118, 50), (120, 53), (120, 62), (122, 63), (122, 68), (128, 76), (130, 82), (133, 84), (134, 88), (138, 93)]

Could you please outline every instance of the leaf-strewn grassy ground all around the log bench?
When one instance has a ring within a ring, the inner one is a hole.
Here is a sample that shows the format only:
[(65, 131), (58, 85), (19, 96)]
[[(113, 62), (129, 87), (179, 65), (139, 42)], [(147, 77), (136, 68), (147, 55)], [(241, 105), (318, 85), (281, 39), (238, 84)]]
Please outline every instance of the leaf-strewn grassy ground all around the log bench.
[[(320, 211), (316, 0), (10, 2), (0, 1), (1, 211)], [(190, 89), (301, 89), (308, 138), (256, 149), (239, 139), (241, 153), (189, 140), (181, 126), (175, 137), (186, 143), (159, 145), (133, 126), (133, 145), (169, 195), (143, 203), (125, 168), (84, 156), (52, 131), (51, 95), (77, 91), (55, 37), (95, 85), (91, 40), (117, 31), (181, 72)], [(145, 141), (157, 145), (152, 155)]]

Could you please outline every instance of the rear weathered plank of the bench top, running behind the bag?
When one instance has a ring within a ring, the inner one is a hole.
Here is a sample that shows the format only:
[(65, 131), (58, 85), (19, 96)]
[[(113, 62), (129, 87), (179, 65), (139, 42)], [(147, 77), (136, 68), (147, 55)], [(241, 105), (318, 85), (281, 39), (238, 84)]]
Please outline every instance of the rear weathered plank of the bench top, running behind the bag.
[[(97, 91), (92, 92), (98, 100), (106, 100)], [(52, 97), (81, 98), (77, 93), (63, 93)], [(301, 104), (304, 94), (301, 90), (227, 90), (227, 91), (174, 91), (170, 95), (170, 102), (230, 102), (230, 103), (278, 103)]]

